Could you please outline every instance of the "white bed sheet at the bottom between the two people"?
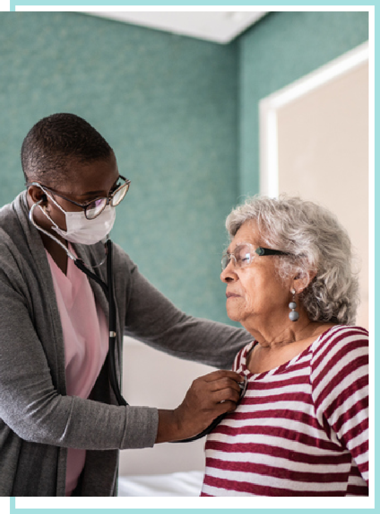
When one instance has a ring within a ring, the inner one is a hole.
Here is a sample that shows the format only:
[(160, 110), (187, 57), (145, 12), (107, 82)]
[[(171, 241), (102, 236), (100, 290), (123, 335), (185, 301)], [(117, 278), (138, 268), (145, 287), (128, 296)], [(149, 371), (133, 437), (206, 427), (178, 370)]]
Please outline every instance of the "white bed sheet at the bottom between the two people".
[(118, 496), (199, 496), (203, 471), (119, 476)]

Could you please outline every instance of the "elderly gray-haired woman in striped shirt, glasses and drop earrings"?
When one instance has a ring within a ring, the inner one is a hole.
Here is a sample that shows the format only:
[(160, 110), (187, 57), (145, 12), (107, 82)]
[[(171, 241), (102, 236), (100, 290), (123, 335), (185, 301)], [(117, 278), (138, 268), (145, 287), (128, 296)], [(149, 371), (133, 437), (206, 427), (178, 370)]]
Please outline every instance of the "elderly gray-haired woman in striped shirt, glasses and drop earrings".
[(202, 496), (368, 495), (368, 332), (346, 231), (281, 196), (231, 212), (227, 313), (253, 336), (248, 388), (208, 436)]

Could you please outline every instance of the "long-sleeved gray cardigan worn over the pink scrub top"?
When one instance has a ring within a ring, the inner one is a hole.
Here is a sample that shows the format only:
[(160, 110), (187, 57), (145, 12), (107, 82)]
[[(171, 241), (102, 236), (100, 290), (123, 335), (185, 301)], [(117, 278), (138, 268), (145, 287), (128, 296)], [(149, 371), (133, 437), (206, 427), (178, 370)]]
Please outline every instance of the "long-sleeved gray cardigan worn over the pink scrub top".
[[(101, 243), (74, 248), (87, 262), (104, 255)], [(94, 270), (107, 280), (106, 265)], [(251, 339), (241, 329), (176, 309), (117, 245), (113, 279), (119, 378), (123, 333), (219, 368), (230, 368)], [(108, 317), (102, 288), (90, 284)], [(64, 496), (70, 447), (88, 450), (81, 495), (116, 495), (118, 450), (152, 447), (158, 412), (116, 405), (108, 357), (89, 399), (66, 395), (61, 320), (46, 252), (28, 219), (26, 192), (0, 210), (0, 324), (0, 495)]]

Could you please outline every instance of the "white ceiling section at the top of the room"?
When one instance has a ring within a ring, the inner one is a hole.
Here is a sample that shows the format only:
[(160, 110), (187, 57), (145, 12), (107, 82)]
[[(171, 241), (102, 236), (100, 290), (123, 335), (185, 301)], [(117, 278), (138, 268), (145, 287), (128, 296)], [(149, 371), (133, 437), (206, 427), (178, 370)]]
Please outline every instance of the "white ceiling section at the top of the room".
[(143, 27), (229, 43), (268, 11), (81, 11)]

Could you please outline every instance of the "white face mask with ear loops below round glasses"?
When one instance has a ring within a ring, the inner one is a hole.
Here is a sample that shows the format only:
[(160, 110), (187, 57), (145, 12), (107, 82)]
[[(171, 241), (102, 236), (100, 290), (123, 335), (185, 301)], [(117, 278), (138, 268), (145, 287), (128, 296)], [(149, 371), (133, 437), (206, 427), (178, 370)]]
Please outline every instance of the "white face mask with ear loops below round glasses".
[(66, 241), (82, 245), (94, 245), (95, 243), (102, 241), (102, 239), (111, 232), (116, 218), (114, 207), (107, 205), (107, 207), (96, 218), (87, 219), (85, 211), (83, 210), (79, 212), (66, 212), (42, 186), (39, 187), (41, 187), (44, 193), (48, 195), (54, 204), (65, 214), (66, 231), (59, 228), (46, 210), (38, 205), (45, 216), (49, 218), (51, 223), (54, 225), (52, 229), (66, 239)]

